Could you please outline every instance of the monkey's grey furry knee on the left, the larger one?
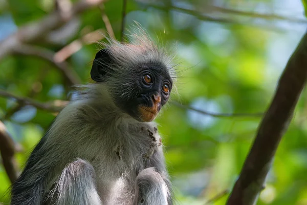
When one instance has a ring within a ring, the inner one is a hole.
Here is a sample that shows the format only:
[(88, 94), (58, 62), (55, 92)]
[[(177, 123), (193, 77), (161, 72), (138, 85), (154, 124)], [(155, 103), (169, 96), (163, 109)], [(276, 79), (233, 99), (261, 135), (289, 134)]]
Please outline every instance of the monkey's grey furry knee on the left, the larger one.
[(100, 205), (93, 166), (82, 159), (69, 163), (51, 192), (51, 204)]

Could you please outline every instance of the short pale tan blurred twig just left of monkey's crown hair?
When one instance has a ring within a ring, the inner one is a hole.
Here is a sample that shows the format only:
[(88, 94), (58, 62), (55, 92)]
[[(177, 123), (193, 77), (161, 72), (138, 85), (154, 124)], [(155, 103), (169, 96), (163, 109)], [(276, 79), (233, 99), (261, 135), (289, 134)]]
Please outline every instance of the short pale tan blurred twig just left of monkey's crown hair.
[(87, 33), (84, 36), (82, 36), (80, 39), (74, 40), (72, 43), (69, 45), (65, 46), (58, 52), (54, 54), (54, 61), (56, 63), (62, 63), (64, 60), (72, 56), (74, 53), (79, 51), (82, 46), (85, 45), (90, 45), (98, 42), (98, 40), (101, 40), (104, 38), (102, 35), (104, 31), (102, 29), (98, 29), (96, 31), (93, 31), (91, 33)]

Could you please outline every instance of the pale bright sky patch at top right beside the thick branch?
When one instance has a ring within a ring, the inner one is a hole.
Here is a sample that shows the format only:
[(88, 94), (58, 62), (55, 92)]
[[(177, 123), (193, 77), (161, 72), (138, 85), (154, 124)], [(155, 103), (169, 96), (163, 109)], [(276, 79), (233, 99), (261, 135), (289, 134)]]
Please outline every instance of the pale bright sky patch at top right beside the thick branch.
[[(274, 0), (272, 4), (271, 12), (274, 14), (305, 19), (300, 0)], [(270, 84), (272, 88), (276, 86), (275, 81), (272, 83), (272, 77), (277, 78), (286, 67), (306, 29), (304, 24), (287, 22), (287, 20), (275, 21), (274, 24), (285, 29), (286, 32), (272, 33), (267, 43), (266, 85)]]

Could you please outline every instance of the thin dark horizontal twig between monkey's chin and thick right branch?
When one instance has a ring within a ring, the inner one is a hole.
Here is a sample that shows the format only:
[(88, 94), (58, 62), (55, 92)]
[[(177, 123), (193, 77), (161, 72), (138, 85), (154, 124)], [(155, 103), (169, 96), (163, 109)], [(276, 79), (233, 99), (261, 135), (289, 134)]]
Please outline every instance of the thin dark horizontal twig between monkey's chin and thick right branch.
[(182, 105), (175, 101), (172, 101), (171, 103), (180, 108), (192, 110), (192, 111), (204, 114), (204, 115), (210, 115), (212, 117), (261, 117), (264, 115), (264, 113), (212, 113), (212, 112), (207, 112), (207, 111), (203, 111), (200, 109), (196, 109), (196, 108), (193, 108), (187, 105)]

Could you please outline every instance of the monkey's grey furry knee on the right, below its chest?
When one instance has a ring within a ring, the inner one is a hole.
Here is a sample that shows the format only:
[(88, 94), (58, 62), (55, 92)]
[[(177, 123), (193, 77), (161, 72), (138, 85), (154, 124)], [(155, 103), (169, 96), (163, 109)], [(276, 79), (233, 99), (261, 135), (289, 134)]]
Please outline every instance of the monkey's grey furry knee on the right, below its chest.
[(155, 168), (146, 168), (136, 179), (133, 205), (167, 205), (169, 190), (160, 173)]

